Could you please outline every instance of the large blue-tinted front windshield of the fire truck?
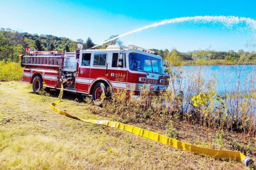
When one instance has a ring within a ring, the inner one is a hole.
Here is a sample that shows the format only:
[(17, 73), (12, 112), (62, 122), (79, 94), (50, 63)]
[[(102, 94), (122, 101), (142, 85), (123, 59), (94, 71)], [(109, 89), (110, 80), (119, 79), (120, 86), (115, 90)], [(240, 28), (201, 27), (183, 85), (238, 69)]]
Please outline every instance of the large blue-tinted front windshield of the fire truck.
[(142, 55), (139, 53), (129, 54), (129, 67), (130, 70), (134, 71), (143, 72), (144, 70), (149, 73), (164, 74), (163, 63), (161, 59), (150, 57), (148, 55)]

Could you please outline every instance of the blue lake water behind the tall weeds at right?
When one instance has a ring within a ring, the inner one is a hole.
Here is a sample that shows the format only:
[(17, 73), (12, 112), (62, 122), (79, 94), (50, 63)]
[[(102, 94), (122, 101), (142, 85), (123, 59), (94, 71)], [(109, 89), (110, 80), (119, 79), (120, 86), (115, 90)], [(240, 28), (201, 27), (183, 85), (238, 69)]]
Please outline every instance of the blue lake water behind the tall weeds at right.
[[(251, 83), (255, 85), (256, 78), (256, 65), (212, 65), (212, 66), (183, 66), (182, 70), (184, 74), (199, 70), (198, 67), (204, 67), (203, 77), (206, 82), (216, 75), (217, 79), (217, 92), (231, 92), (234, 88), (237, 88), (238, 77), (240, 75), (240, 83), (242, 91), (248, 89)], [(174, 68), (175, 69), (175, 68)], [(253, 80), (253, 81), (252, 81)]]

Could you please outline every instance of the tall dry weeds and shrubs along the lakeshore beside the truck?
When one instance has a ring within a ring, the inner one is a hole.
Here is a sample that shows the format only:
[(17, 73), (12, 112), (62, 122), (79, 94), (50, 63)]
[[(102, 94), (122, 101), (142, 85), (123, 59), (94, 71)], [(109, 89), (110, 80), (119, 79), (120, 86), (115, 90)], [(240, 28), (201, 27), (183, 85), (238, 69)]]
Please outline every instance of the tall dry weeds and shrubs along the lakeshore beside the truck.
[(144, 88), (137, 100), (131, 97), (132, 91), (117, 89), (112, 98), (103, 103), (106, 113), (112, 114), (115, 121), (140, 122), (160, 127), (174, 138), (178, 138), (178, 134), (175, 134), (175, 128), (170, 122), (199, 124), (205, 129), (221, 132), (216, 136), (220, 146), (223, 145), (221, 138), (224, 131), (255, 136), (254, 71), (247, 74), (245, 91), (241, 90), (242, 84), (238, 77), (231, 91), (220, 94), (216, 92), (216, 77), (209, 78), (207, 67), (194, 67), (193, 71), (182, 70), (182, 67), (170, 70), (170, 86), (165, 92), (154, 95), (148, 88)]

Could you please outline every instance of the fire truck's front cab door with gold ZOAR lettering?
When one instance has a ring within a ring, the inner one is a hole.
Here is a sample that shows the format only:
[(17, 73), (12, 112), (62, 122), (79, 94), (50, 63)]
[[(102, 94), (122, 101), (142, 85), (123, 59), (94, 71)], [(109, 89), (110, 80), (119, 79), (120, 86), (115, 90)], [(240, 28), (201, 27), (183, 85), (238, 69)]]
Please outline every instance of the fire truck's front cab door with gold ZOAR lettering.
[[(126, 52), (112, 52), (109, 64), (108, 78), (113, 88), (126, 88), (127, 85), (127, 63)], [(119, 59), (118, 59), (119, 58)], [(122, 58), (122, 59), (121, 59)], [(119, 63), (118, 63), (119, 62)]]

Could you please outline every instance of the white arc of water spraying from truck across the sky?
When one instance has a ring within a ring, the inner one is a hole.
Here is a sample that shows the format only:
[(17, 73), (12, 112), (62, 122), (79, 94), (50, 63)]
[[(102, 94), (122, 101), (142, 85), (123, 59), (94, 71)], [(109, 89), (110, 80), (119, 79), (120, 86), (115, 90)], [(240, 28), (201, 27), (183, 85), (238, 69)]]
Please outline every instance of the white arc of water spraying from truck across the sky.
[[(104, 43), (107, 43), (109, 41), (115, 40), (117, 38), (124, 37), (126, 35), (132, 34), (132, 33), (137, 33), (142, 30), (151, 28), (151, 27), (157, 27), (157, 26), (162, 26), (166, 24), (172, 24), (172, 23), (181, 23), (181, 22), (186, 22), (186, 21), (195, 21), (195, 22), (201, 22), (201, 23), (222, 23), (223, 25), (230, 27), (239, 23), (245, 23), (246, 26), (250, 27), (253, 31), (256, 30), (256, 20), (252, 18), (245, 18), (245, 17), (235, 17), (235, 16), (195, 16), (195, 17), (180, 17), (180, 18), (172, 18), (172, 19), (165, 19), (160, 22), (156, 22), (153, 24), (150, 24), (148, 26), (143, 26), (137, 29), (134, 29), (132, 31), (129, 31), (127, 33), (123, 33), (121, 35), (118, 35), (117, 37), (114, 37), (110, 40), (101, 42), (98, 45), (95, 45), (92, 48), (96, 48)], [(90, 49), (92, 49), (90, 48)]]

